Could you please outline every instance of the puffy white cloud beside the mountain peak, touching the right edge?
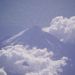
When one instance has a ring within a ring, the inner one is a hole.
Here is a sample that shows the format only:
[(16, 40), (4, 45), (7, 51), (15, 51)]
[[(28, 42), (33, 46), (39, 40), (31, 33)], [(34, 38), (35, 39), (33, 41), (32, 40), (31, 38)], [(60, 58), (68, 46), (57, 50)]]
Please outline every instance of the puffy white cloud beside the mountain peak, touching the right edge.
[(75, 16), (70, 18), (63, 16), (55, 17), (51, 21), (50, 26), (43, 28), (43, 31), (55, 35), (60, 41), (73, 41), (75, 40)]

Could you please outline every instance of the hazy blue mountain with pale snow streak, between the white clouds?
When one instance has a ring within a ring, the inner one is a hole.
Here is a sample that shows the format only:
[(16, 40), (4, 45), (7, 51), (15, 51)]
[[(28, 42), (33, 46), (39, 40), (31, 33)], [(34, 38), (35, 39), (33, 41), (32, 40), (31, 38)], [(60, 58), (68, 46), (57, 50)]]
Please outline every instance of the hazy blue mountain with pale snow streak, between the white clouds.
[[(0, 43), (1, 47), (7, 45), (28, 45), (29, 48), (47, 48), (49, 51), (55, 52), (55, 58), (61, 56), (67, 56), (69, 59), (69, 65), (64, 69), (63, 75), (75, 75), (75, 44), (62, 43), (55, 36), (50, 33), (43, 32), (41, 28), (35, 26), (32, 28), (27, 28), (20, 33), (8, 38), (7, 40)], [(71, 66), (71, 64), (73, 66)]]

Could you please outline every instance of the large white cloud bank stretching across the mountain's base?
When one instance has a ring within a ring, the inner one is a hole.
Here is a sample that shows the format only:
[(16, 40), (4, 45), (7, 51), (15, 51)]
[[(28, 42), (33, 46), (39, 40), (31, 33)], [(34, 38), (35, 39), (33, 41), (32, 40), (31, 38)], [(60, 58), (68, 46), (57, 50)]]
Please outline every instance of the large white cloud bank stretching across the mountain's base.
[(59, 75), (67, 64), (68, 58), (54, 60), (53, 56), (54, 53), (48, 52), (46, 48), (7, 46), (0, 50), (0, 67), (4, 67), (8, 75)]

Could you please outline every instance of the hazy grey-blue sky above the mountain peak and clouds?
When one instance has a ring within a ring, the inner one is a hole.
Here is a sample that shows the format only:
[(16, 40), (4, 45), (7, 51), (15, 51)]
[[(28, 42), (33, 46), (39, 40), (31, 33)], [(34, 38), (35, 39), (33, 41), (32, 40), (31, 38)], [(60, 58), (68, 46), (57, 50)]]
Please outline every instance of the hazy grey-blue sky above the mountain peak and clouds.
[(56, 16), (74, 15), (75, 0), (0, 0), (0, 36), (28, 25), (49, 25)]

